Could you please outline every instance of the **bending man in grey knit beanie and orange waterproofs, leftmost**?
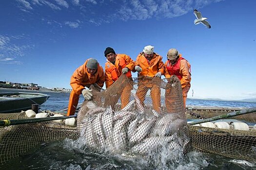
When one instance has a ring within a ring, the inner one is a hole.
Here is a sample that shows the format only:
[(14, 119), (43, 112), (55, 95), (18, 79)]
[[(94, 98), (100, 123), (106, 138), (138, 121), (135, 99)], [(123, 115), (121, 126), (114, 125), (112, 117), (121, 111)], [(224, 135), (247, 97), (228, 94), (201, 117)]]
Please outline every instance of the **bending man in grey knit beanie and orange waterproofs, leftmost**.
[(90, 85), (97, 84), (102, 87), (104, 82), (104, 70), (96, 59), (89, 58), (82, 66), (77, 68), (70, 79), (72, 91), (69, 97), (67, 116), (75, 114), (80, 94), (83, 95), (85, 100), (90, 100), (93, 96), (92, 89), (89, 89)]

